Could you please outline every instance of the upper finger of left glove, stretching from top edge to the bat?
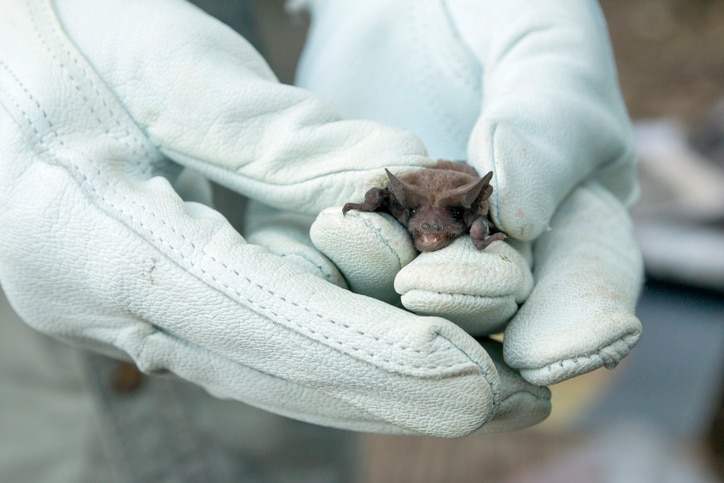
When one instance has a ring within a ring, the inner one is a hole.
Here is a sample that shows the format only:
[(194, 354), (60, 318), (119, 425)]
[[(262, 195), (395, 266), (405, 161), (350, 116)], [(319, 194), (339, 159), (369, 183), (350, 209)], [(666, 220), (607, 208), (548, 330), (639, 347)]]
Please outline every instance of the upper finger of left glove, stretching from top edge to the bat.
[[(31, 4), (54, 20), (42, 2)], [(412, 134), (344, 121), (279, 84), (251, 45), (186, 2), (61, 0), (55, 8), (75, 44), (68, 49), (77, 46), (92, 66), (85, 70), (160, 152), (264, 204), (316, 214), (364, 195), (384, 167), (431, 163)]]

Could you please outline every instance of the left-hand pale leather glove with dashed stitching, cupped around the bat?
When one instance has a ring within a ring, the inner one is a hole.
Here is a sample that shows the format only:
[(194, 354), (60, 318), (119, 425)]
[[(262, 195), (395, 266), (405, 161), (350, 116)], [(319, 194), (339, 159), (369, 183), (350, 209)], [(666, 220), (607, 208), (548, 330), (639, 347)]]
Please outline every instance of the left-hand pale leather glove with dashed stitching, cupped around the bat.
[(178, 196), (183, 166), (316, 215), (384, 167), (431, 163), (410, 133), (278, 84), (189, 4), (5, 2), (0, 105), (0, 281), (36, 329), (341, 428), (461, 436), (547, 415), (547, 389), (453, 323), (344, 290)]

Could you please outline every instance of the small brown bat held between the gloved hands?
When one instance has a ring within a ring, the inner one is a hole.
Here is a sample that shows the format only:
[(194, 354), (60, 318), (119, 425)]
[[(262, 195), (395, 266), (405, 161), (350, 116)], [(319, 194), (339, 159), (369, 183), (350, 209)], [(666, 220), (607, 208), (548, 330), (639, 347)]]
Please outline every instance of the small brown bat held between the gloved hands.
[(363, 203), (345, 204), (342, 214), (389, 213), (407, 228), (421, 252), (445, 248), (467, 233), (479, 250), (506, 237), (488, 218), (492, 171), (481, 178), (468, 165), (443, 160), (399, 178), (385, 171), (389, 187), (370, 189)]

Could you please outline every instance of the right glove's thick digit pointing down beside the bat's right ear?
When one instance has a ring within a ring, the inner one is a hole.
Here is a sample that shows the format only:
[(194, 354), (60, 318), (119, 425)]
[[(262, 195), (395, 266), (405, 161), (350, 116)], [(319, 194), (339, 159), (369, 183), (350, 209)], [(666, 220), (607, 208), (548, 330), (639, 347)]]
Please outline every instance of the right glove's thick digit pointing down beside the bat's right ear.
[(447, 3), (483, 66), (468, 162), (495, 173), (496, 224), (513, 237), (537, 238), (559, 203), (593, 173), (630, 202), (631, 127), (597, 2)]

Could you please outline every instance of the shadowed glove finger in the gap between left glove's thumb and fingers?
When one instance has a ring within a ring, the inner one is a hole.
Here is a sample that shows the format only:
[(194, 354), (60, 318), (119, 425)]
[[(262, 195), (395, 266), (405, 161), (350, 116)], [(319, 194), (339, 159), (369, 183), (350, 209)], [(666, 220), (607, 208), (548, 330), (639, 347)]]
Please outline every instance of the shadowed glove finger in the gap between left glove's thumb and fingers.
[(248, 243), (263, 246), (305, 272), (347, 288), (337, 267), (312, 245), (309, 238), (312, 221), (314, 218), (308, 215), (276, 210), (251, 200), (246, 212), (244, 238)]

